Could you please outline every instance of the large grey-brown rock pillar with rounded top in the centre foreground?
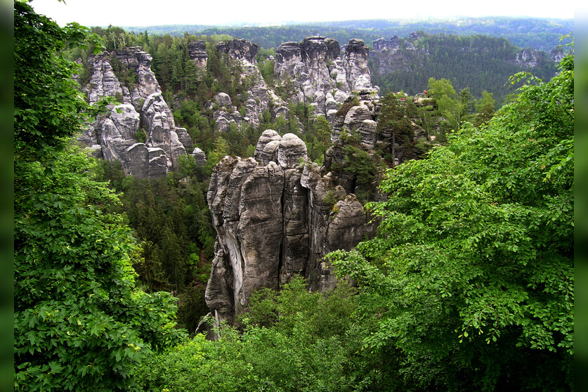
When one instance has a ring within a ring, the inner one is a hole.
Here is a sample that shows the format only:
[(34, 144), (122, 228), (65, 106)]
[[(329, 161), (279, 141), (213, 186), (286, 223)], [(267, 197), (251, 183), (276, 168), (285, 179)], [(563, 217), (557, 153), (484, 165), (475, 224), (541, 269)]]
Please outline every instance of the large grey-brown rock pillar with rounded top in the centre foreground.
[(311, 289), (334, 287), (322, 258), (358, 244), (367, 220), (355, 195), (323, 171), (300, 138), (272, 130), (255, 159), (224, 157), (215, 166), (207, 200), (218, 237), (206, 299), (216, 322), (233, 322), (254, 290), (277, 289), (295, 274)]

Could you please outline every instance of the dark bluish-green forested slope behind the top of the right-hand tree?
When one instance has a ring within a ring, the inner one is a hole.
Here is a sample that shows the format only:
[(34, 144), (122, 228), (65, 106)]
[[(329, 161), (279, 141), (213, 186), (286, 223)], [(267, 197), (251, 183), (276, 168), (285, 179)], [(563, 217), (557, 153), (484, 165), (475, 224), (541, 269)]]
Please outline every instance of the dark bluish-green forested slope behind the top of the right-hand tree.
[[(516, 63), (520, 48), (507, 39), (485, 35), (426, 34), (418, 39), (399, 39), (400, 48), (370, 55), (372, 82), (384, 91), (422, 92), (430, 77), (452, 81), (455, 89), (468, 87), (474, 96), (490, 91), (502, 103), (514, 91), (506, 81), (521, 70)], [(407, 48), (406, 44), (412, 44)], [(537, 52), (537, 64), (530, 68), (536, 77), (549, 80), (556, 64), (547, 53)]]

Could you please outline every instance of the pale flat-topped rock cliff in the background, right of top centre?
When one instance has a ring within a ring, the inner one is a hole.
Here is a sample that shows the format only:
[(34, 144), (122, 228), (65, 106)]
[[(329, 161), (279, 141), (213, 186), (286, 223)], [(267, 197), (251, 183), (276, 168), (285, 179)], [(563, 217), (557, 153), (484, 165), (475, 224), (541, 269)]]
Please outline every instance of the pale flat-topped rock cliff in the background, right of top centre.
[(311, 103), (315, 115), (332, 120), (352, 92), (377, 93), (367, 68), (367, 46), (361, 40), (349, 41), (342, 57), (339, 42), (325, 37), (286, 42), (276, 52), (277, 79), (291, 90), (294, 100)]

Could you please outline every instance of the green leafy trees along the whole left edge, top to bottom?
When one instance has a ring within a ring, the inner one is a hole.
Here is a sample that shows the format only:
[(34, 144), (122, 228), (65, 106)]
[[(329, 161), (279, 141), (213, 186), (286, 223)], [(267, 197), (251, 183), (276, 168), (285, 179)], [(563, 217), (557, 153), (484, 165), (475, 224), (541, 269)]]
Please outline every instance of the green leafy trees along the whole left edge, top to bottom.
[(136, 245), (96, 164), (71, 137), (93, 109), (66, 46), (88, 37), (14, 3), (14, 386), (128, 390), (131, 367), (176, 343), (169, 293), (135, 287)]

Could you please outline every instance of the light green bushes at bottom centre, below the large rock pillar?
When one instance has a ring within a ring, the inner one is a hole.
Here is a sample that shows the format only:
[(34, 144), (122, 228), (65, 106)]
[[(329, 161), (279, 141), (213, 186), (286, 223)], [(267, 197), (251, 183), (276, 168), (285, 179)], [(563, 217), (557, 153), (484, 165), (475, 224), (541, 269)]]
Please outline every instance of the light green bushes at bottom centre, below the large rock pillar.
[(149, 391), (373, 391), (381, 372), (361, 351), (353, 290), (308, 292), (294, 277), (251, 296), (242, 333), (226, 327), (153, 355), (137, 370)]

